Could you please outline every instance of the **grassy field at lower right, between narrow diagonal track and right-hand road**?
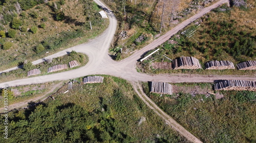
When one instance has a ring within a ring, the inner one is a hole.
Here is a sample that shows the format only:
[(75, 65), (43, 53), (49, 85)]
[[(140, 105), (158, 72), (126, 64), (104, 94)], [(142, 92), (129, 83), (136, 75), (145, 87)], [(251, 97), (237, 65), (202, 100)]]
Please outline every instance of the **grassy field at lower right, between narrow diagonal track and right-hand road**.
[[(256, 93), (248, 91), (221, 91), (224, 97), (216, 99), (211, 83), (178, 83), (173, 95), (144, 92), (168, 115), (203, 142), (255, 142)], [(190, 89), (190, 90), (186, 90)]]

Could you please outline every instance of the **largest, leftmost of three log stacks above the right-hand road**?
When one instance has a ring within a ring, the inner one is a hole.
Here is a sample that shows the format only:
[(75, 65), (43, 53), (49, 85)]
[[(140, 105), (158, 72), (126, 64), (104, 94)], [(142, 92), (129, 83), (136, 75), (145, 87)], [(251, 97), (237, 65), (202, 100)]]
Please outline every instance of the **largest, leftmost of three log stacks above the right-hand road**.
[(191, 56), (182, 56), (173, 61), (173, 69), (201, 69), (199, 60)]

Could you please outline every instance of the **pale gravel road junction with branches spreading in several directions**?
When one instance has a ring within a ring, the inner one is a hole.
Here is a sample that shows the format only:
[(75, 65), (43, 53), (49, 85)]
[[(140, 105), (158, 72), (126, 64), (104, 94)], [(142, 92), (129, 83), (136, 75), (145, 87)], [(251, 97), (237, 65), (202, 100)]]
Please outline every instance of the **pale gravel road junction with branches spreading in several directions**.
[[(99, 0), (94, 0), (94, 1), (102, 7), (106, 7)], [(83, 66), (75, 70), (56, 73), (56, 74), (31, 77), (26, 79), (19, 79), (19, 80), (0, 83), (0, 88), (3, 88), (4, 85), (6, 84), (8, 84), (9, 86), (15, 86), (15, 85), (24, 85), (24, 84), (44, 83), (44, 82), (49, 82), (54, 80), (73, 79), (73, 78), (82, 77), (82, 76), (91, 75), (91, 74), (108, 74), (108, 75), (121, 77), (132, 82), (138, 82), (138, 81), (213, 82), (214, 80), (217, 80), (217, 79), (243, 79), (243, 80), (256, 81), (255, 76), (232, 76), (232, 75), (209, 76), (209, 75), (188, 75), (188, 74), (179, 74), (175, 76), (166, 75), (166, 74), (147, 75), (143, 73), (138, 73), (136, 71), (136, 68), (135, 68), (136, 62), (144, 52), (156, 48), (158, 45), (168, 40), (178, 31), (182, 30), (182, 28), (184, 28), (186, 25), (200, 18), (205, 13), (209, 12), (210, 10), (218, 7), (223, 3), (228, 3), (228, 0), (221, 0), (216, 4), (203, 9), (198, 14), (190, 17), (189, 19), (185, 20), (181, 24), (177, 25), (175, 28), (173, 28), (173, 30), (167, 32), (165, 35), (159, 37), (157, 40), (153, 41), (151, 44), (145, 46), (141, 50), (131, 55), (129, 58), (126, 58), (125, 60), (122, 60), (120, 62), (113, 61), (108, 55), (108, 49), (110, 47), (110, 44), (112, 42), (112, 39), (116, 31), (116, 27), (117, 27), (117, 20), (115, 16), (113, 15), (113, 13), (109, 13), (110, 25), (100, 36), (91, 40), (88, 43), (80, 44), (80, 45), (68, 48), (66, 50), (57, 52), (45, 58), (45, 59), (55, 58), (61, 55), (65, 55), (67, 54), (67, 52), (70, 52), (72, 50), (75, 50), (77, 52), (81, 52), (89, 56), (89, 62), (86, 66)], [(42, 59), (34, 61), (33, 64), (37, 64), (40, 62), (42, 62)], [(135, 90), (137, 90), (137, 88), (135, 88)], [(161, 117), (166, 122), (168, 121), (168, 123), (173, 124), (175, 127), (174, 129), (180, 132), (182, 135), (184, 135), (188, 140), (193, 142), (201, 142), (198, 138), (196, 138), (194, 135), (186, 131), (183, 127), (181, 129), (180, 125), (177, 122), (175, 122), (172, 118), (168, 117), (167, 115), (164, 115), (163, 114), (164, 112), (161, 109), (159, 109), (157, 105), (153, 104), (151, 100), (146, 99), (146, 96), (140, 96), (140, 97), (147, 105), (151, 105), (150, 107), (153, 108), (155, 112), (160, 114)]]

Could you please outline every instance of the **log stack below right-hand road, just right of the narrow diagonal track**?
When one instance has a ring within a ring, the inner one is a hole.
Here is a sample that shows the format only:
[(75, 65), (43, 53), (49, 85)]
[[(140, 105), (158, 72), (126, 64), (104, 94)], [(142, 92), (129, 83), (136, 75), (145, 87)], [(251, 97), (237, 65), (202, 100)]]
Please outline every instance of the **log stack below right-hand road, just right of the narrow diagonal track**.
[(151, 81), (150, 92), (160, 94), (173, 94), (173, 88), (171, 84), (165, 82)]

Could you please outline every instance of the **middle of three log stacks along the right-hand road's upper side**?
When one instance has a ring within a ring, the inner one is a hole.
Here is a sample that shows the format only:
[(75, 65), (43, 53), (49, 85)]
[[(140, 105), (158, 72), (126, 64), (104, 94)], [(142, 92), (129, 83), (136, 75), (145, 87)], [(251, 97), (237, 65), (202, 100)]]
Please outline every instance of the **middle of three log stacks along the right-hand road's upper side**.
[(210, 61), (204, 64), (207, 70), (234, 69), (234, 64), (229, 61)]

